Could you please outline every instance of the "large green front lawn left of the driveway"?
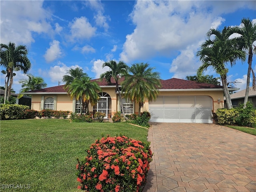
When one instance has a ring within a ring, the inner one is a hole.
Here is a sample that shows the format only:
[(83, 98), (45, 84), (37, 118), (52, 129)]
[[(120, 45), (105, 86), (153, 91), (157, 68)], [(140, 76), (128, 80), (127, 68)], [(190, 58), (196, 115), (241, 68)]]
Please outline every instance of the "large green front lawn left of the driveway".
[[(0, 190), (74, 192), (76, 158), (82, 159), (102, 135), (123, 134), (141, 141), (148, 130), (125, 123), (70, 123), (63, 119), (0, 122)], [(30, 189), (4, 189), (4, 185)]]

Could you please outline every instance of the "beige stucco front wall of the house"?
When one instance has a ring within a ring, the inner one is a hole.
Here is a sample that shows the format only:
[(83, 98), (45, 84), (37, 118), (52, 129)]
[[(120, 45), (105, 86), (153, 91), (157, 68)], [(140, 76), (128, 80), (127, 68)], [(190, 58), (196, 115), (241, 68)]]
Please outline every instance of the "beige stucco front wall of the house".
[[(111, 97), (111, 105), (113, 115), (114, 112), (121, 111), (119, 96), (115, 93), (115, 87), (113, 88), (102, 88), (102, 92), (106, 92)], [(224, 96), (223, 91), (166, 91), (160, 92), (158, 96), (210, 96), (213, 100), (213, 110), (216, 111), (218, 108), (224, 108)], [(43, 95), (36, 94), (32, 96), (32, 106), (31, 108), (34, 110), (41, 110), (41, 98)], [(70, 97), (67, 94), (58, 94), (58, 95), (44, 95), (44, 99), (49, 96), (57, 96), (56, 110), (73, 110), (73, 102), (70, 100)], [(220, 103), (218, 103), (218, 99), (220, 98)], [(138, 114), (139, 105), (135, 104), (135, 114)], [(92, 111), (92, 106), (89, 107), (89, 110)], [(144, 103), (144, 107), (141, 109), (141, 112), (149, 111), (149, 102), (146, 101)]]

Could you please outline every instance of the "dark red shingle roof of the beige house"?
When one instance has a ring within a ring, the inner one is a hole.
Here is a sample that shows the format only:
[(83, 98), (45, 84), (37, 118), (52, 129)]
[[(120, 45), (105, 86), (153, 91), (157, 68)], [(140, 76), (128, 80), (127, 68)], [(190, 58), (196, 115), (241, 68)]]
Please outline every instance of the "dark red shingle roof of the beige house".
[[(123, 80), (124, 80), (124, 77), (121, 77), (119, 82), (122, 82)], [(94, 79), (92, 81), (97, 82), (98, 85), (101, 87), (115, 87), (114, 78), (111, 78), (110, 84), (108, 82), (106, 82), (105, 79), (103, 79), (102, 81), (100, 81), (100, 79)], [(171, 78), (168, 80), (160, 80), (160, 81), (162, 84), (161, 88), (159, 89), (160, 91), (165, 91), (165, 90), (202, 90), (202, 89), (223, 90), (222, 86), (219, 86), (219, 85), (200, 83), (200, 82), (188, 81), (188, 80), (177, 79), (177, 78)], [(55, 87), (49, 87), (49, 88), (44, 88), (44, 89), (28, 91), (23, 94), (33, 94), (33, 93), (34, 94), (37, 94), (37, 93), (38, 94), (39, 93), (66, 94), (66, 90), (64, 90), (64, 85), (60, 85), (60, 86), (55, 86)]]

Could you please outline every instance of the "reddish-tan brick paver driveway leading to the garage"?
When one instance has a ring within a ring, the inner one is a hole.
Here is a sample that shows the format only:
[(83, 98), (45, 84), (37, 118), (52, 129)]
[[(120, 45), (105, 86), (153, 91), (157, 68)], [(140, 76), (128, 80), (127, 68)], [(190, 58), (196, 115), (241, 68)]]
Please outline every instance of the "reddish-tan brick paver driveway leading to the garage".
[(215, 124), (152, 123), (143, 192), (256, 192), (256, 136)]

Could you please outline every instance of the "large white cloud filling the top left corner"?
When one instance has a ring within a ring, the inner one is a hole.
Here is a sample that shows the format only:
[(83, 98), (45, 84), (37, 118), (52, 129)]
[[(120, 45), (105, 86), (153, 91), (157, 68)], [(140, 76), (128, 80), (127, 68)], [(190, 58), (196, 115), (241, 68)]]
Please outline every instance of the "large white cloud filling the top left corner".
[(43, 1), (1, 1), (0, 42), (31, 44), (33, 32), (50, 34), (49, 14), (42, 6)]

